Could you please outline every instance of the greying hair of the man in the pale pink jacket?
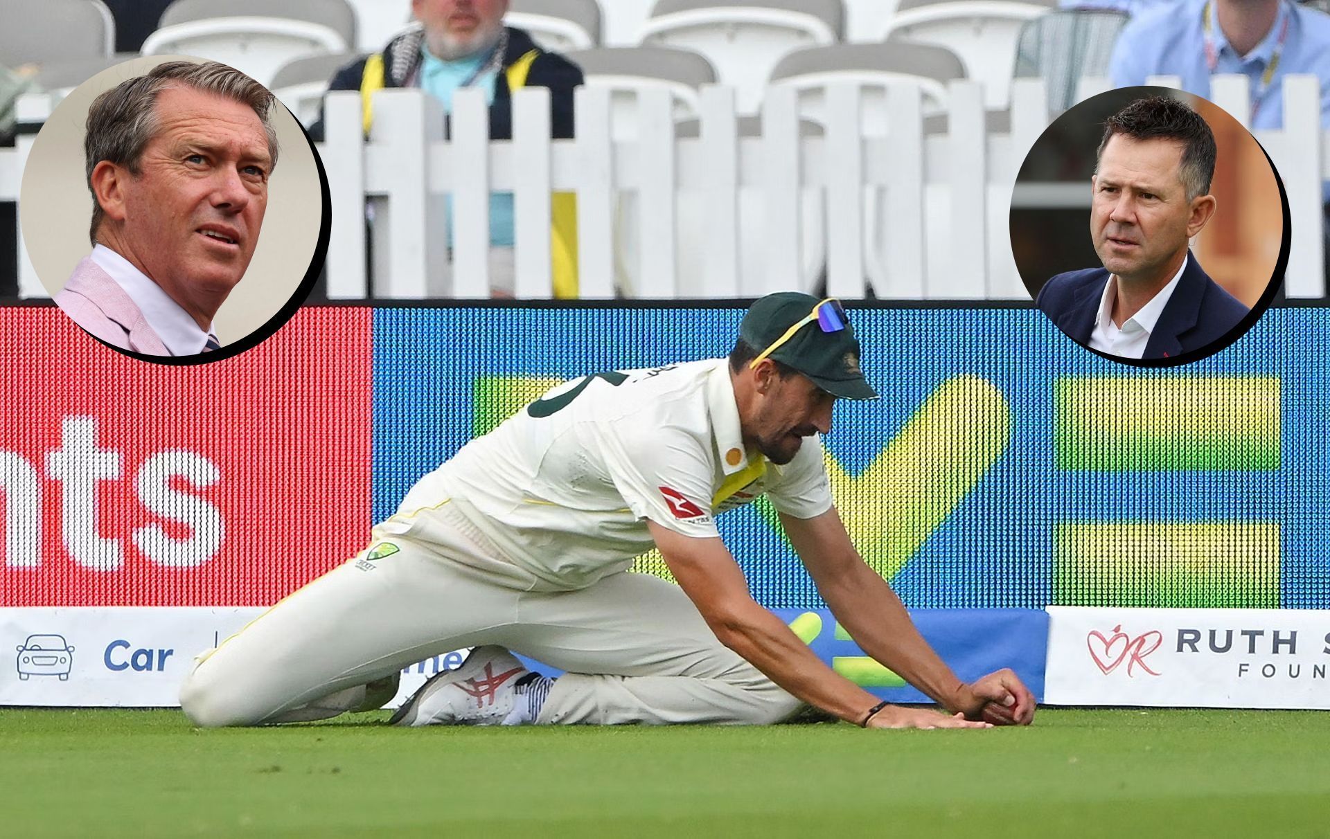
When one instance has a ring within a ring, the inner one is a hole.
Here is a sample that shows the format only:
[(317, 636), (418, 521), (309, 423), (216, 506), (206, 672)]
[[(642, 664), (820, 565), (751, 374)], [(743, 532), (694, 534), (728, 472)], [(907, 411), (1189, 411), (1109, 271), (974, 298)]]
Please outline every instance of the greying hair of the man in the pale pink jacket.
[(157, 96), (170, 88), (193, 88), (203, 93), (214, 93), (249, 105), (258, 114), (267, 134), (267, 153), (277, 165), (277, 129), (269, 120), (273, 108), (273, 94), (245, 73), (218, 64), (217, 61), (166, 61), (148, 70), (144, 76), (125, 80), (106, 90), (88, 109), (88, 132), (84, 137), (84, 157), (86, 162), (88, 190), (92, 191), (92, 227), (88, 231), (92, 243), (97, 243), (97, 229), (105, 213), (92, 187), (92, 170), (101, 161), (109, 161), (140, 174), (138, 164), (144, 149), (157, 136), (161, 116), (157, 113)]

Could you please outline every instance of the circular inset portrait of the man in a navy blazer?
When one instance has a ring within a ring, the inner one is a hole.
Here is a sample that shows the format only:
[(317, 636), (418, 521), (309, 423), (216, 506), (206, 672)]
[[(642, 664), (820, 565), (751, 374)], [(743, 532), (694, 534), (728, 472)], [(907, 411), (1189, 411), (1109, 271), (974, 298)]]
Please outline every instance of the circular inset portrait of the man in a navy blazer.
[(1068, 338), (1128, 364), (1228, 347), (1270, 306), (1287, 199), (1256, 138), (1170, 88), (1119, 88), (1060, 116), (1016, 177), (1011, 243)]

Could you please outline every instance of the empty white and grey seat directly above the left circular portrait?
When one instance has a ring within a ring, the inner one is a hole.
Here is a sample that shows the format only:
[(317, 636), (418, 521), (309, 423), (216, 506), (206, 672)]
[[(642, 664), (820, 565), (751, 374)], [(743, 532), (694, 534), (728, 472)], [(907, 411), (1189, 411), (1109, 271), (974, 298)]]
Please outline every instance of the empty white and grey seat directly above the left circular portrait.
[(347, 52), (355, 12), (347, 0), (176, 0), (144, 55), (184, 53), (229, 64), (270, 84), (287, 61)]

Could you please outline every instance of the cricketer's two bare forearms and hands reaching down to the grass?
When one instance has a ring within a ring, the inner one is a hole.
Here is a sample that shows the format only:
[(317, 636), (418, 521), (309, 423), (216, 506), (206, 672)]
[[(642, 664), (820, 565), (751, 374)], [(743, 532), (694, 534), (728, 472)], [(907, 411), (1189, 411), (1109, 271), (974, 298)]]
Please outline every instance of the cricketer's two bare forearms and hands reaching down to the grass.
[[(813, 519), (781, 515), (790, 544), (837, 621), (864, 653), (947, 710), (887, 706), (866, 727), (987, 729), (1029, 722), (1033, 697), (1011, 670), (967, 685), (924, 641), (900, 598), (855, 550), (833, 507)], [(665, 564), (708, 626), (790, 694), (841, 719), (864, 725), (878, 698), (835, 673), (749, 594), (747, 581), (720, 539), (694, 539), (646, 523)], [(1008, 697), (1012, 703), (1005, 703)], [(991, 713), (987, 709), (995, 707)]]

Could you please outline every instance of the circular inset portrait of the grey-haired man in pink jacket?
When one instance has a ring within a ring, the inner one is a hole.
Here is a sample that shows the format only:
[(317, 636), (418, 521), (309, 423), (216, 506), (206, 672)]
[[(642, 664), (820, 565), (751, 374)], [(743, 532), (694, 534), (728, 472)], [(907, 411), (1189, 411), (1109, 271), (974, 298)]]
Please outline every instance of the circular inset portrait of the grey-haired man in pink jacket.
[(78, 85), (32, 145), (32, 266), (69, 318), (142, 359), (223, 359), (275, 332), (327, 251), (305, 130), (225, 64), (152, 56)]

